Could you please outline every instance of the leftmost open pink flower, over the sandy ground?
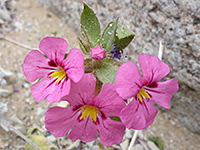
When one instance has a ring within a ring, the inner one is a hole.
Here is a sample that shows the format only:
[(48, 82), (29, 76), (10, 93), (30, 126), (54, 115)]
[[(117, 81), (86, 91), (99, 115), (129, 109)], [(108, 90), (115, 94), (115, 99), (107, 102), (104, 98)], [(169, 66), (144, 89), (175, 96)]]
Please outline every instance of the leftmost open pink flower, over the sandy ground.
[(54, 103), (69, 94), (71, 83), (79, 82), (84, 74), (84, 57), (80, 50), (72, 49), (67, 58), (67, 42), (58, 37), (46, 37), (41, 40), (39, 49), (32, 50), (25, 58), (23, 71), (30, 82), (43, 78), (31, 87), (37, 102), (47, 97)]

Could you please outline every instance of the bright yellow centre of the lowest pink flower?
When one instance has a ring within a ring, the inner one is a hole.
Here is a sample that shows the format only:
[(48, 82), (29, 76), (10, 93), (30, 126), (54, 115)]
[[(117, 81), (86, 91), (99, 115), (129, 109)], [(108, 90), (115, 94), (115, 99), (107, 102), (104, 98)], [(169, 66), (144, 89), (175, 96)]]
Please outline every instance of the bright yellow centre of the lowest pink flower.
[(86, 118), (88, 115), (90, 115), (90, 118), (92, 118), (92, 120), (94, 122), (96, 122), (97, 113), (99, 112), (99, 109), (97, 107), (85, 105), (82, 110), (83, 110), (83, 113), (82, 113), (80, 120), (82, 120), (82, 119)]

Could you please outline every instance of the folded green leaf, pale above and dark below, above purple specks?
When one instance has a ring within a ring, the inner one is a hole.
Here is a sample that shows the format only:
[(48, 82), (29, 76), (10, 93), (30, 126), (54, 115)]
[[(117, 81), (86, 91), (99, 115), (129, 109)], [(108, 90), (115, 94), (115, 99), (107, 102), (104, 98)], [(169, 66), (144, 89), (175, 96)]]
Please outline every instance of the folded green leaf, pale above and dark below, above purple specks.
[(119, 49), (126, 48), (134, 38), (134, 33), (124, 25), (118, 23), (116, 30), (115, 43)]

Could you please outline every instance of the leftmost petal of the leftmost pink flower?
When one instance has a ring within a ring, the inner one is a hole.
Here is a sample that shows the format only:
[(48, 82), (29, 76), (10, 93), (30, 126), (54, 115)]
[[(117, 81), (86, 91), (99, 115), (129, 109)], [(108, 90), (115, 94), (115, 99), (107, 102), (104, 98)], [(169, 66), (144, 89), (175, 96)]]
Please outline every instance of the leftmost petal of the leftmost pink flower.
[(38, 50), (32, 50), (24, 59), (24, 75), (30, 82), (46, 77), (50, 69), (48, 60)]

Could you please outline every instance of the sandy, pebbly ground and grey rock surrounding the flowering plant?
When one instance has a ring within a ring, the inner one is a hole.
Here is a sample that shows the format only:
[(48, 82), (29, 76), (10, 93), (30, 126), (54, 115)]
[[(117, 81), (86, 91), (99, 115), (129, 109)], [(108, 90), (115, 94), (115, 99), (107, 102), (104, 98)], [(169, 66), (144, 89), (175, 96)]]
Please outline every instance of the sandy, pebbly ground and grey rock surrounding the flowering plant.
[[(198, 0), (85, 0), (95, 12), (103, 30), (114, 18), (135, 33), (124, 55), (137, 62), (139, 54), (157, 56), (159, 41), (164, 45), (163, 61), (178, 78), (180, 89), (173, 95), (171, 109), (159, 108), (151, 127), (140, 131), (133, 150), (200, 149), (200, 1)], [(0, 118), (46, 149), (126, 150), (133, 130), (113, 147), (103, 147), (97, 139), (84, 144), (67, 137), (55, 138), (44, 127), (49, 104), (37, 104), (31, 84), (22, 72), (25, 56), (38, 49), (45, 36), (59, 36), (69, 49), (79, 48), (81, 0), (1, 0), (0, 1)], [(63, 104), (54, 104), (63, 105)], [(3, 123), (0, 149), (32, 149)], [(26, 145), (25, 145), (26, 144)]]

